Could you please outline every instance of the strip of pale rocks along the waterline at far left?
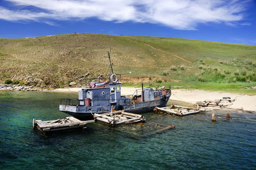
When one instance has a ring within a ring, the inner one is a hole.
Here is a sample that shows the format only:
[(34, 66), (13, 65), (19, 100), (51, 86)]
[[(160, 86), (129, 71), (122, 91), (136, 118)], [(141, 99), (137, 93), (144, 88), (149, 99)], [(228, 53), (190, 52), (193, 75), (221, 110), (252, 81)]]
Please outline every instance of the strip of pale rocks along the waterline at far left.
[(26, 86), (26, 85), (1, 85), (0, 91), (45, 91), (48, 89), (41, 89), (35, 87), (35, 85)]

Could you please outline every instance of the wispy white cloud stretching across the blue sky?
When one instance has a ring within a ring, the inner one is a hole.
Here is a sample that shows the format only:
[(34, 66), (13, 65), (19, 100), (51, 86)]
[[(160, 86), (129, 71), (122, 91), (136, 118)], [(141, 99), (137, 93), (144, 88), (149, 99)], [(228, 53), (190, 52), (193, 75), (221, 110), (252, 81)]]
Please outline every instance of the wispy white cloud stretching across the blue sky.
[[(17, 10), (0, 6), (0, 19), (10, 21), (83, 20), (148, 22), (174, 29), (196, 29), (208, 22), (236, 24), (250, 1), (238, 0), (5, 0)], [(44, 12), (22, 10), (34, 6)], [(50, 21), (47, 21), (51, 23)], [(45, 23), (47, 23), (45, 22)]]

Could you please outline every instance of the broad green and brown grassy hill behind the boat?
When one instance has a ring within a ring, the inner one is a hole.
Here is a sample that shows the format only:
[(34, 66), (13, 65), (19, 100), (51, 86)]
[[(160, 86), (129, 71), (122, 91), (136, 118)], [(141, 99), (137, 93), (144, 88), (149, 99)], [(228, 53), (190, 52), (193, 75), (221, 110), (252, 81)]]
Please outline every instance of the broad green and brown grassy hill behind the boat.
[(126, 85), (256, 93), (256, 46), (179, 38), (65, 34), (0, 39), (0, 81), (64, 87), (106, 74), (109, 46)]

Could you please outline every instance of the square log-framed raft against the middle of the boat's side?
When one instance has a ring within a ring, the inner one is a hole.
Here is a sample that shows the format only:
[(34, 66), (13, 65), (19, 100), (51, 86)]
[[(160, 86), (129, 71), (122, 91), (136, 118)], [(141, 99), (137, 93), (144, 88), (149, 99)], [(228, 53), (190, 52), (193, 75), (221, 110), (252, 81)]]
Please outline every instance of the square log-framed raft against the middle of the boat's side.
[(127, 113), (124, 110), (112, 111), (109, 113), (93, 115), (94, 119), (100, 122), (104, 122), (111, 126), (122, 125), (122, 124), (134, 124), (138, 122), (145, 122), (143, 115), (137, 115), (134, 113)]

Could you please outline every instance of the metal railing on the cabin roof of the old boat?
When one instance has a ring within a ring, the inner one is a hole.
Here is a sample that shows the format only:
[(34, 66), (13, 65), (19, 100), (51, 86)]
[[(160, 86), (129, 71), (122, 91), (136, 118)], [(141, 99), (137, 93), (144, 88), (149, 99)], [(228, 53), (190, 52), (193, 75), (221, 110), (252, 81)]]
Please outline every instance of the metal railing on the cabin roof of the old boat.
[[(104, 86), (103, 85), (104, 83), (108, 84), (110, 82), (110, 76), (111, 74), (98, 75), (97, 78), (80, 78), (79, 80), (82, 87), (90, 88), (91, 87), (90, 83), (102, 83), (102, 86)], [(116, 76), (118, 78), (118, 81), (121, 81), (122, 75), (116, 74)]]

